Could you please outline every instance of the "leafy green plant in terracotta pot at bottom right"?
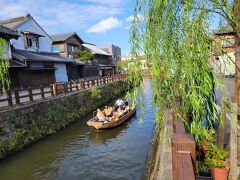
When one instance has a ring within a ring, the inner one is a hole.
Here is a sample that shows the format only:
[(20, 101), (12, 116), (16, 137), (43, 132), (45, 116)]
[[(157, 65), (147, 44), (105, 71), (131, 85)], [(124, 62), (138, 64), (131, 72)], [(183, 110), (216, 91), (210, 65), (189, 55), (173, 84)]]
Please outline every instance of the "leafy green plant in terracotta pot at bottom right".
[(216, 145), (210, 145), (206, 153), (206, 164), (211, 169), (211, 174), (214, 180), (227, 180), (228, 177), (228, 162), (229, 152)]

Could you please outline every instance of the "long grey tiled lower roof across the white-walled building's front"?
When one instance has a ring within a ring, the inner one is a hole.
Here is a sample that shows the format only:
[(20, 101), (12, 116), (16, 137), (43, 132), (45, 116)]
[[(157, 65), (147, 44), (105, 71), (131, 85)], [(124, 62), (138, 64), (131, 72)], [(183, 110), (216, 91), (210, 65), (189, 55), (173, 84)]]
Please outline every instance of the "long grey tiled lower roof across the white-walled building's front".
[(60, 63), (73, 62), (71, 59), (62, 57), (58, 53), (51, 52), (35, 52), (13, 49), (12, 56), (14, 59), (18, 59), (20, 61), (46, 61), (46, 62), (48, 61)]

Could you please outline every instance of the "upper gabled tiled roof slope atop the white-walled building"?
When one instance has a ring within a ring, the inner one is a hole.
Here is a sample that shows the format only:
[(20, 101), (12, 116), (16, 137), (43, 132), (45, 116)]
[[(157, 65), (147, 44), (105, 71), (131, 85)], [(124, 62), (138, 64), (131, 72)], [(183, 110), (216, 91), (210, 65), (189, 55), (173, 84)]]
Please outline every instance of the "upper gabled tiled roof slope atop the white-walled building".
[(32, 16), (30, 14), (27, 14), (26, 16), (20, 16), (20, 17), (0, 21), (0, 24), (8, 28), (15, 29), (20, 24), (24, 23), (25, 21), (28, 21), (30, 18), (32, 18)]

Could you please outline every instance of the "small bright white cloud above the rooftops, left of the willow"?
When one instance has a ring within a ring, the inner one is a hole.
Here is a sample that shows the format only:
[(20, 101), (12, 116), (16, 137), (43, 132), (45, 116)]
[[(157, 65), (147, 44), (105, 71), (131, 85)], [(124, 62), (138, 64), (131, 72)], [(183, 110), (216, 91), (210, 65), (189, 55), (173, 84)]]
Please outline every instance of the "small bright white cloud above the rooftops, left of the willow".
[(117, 18), (108, 18), (100, 21), (99, 23), (93, 25), (90, 27), (87, 32), (88, 33), (101, 33), (101, 32), (106, 32), (110, 29), (117, 28), (121, 26), (122, 23), (119, 21)]

